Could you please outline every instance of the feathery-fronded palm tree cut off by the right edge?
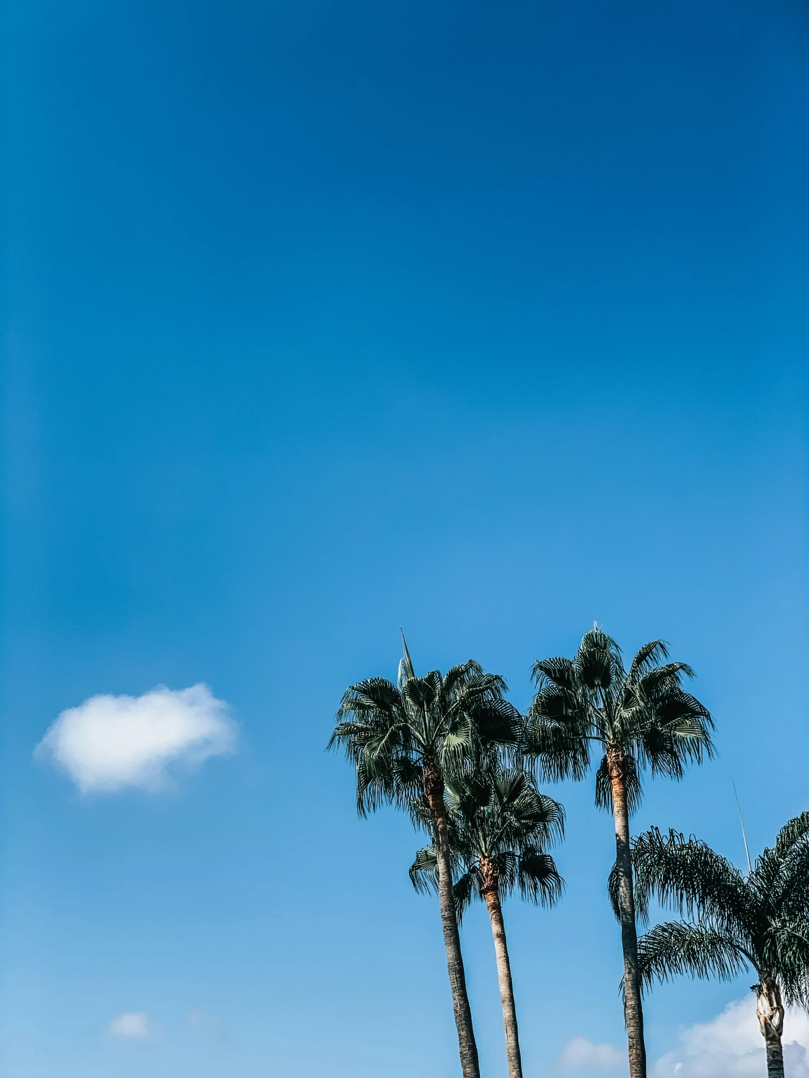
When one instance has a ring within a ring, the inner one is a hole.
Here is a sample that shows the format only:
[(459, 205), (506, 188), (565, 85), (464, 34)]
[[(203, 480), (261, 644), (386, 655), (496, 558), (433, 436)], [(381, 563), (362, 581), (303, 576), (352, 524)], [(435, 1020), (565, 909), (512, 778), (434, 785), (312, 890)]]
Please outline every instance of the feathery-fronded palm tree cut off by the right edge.
[(640, 941), (644, 985), (675, 973), (729, 980), (752, 966), (769, 1078), (784, 1078), (782, 1000), (809, 1009), (809, 812), (781, 828), (746, 875), (694, 835), (653, 827), (632, 848), (639, 916), (655, 896), (691, 921)]

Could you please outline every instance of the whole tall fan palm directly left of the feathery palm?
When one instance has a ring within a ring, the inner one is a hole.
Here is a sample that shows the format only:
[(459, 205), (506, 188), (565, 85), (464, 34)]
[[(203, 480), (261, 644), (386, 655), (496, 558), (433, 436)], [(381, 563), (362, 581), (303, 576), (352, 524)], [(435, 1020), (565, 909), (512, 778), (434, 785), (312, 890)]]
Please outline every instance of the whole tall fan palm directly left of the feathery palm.
[(708, 709), (685, 692), (685, 663), (664, 663), (663, 640), (645, 644), (623, 668), (618, 645), (597, 625), (573, 660), (534, 664), (537, 692), (524, 728), (524, 751), (537, 758), (551, 780), (581, 779), (590, 769), (590, 748), (603, 751), (595, 773), (595, 804), (615, 818), (615, 880), (623, 948), (623, 1015), (631, 1078), (645, 1078), (646, 1049), (637, 969), (637, 931), (632, 894), (629, 817), (637, 807), (641, 775), (682, 778), (689, 761), (712, 756), (713, 722)]

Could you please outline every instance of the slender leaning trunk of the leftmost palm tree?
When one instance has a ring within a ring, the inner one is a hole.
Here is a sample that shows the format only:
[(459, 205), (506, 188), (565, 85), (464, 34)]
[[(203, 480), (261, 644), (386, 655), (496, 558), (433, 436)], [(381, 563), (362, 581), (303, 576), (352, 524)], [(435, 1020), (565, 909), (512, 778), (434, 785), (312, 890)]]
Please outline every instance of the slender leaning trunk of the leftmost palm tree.
[(443, 943), (447, 949), (447, 970), (450, 975), (452, 989), (452, 1006), (455, 1012), (461, 1068), (464, 1078), (480, 1078), (478, 1046), (475, 1044), (469, 997), (466, 993), (464, 959), (461, 954), (461, 935), (457, 929), (455, 900), (452, 895), (452, 861), (450, 859), (447, 806), (443, 800), (443, 778), (437, 768), (425, 764), (423, 779), (424, 792), (427, 794), (433, 815), (438, 854), (438, 904), (441, 908)]

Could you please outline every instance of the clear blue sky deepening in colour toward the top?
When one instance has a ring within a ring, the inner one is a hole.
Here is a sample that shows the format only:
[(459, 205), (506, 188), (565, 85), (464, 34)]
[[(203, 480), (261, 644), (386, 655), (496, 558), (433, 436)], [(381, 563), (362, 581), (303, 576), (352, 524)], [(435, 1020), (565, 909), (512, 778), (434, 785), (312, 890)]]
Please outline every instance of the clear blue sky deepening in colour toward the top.
[[(343, 689), (469, 657), (531, 699), (598, 619), (719, 758), (639, 829), (739, 863), (809, 807), (809, 25), (735, 0), (6, 8), (9, 1078), (442, 1078), (419, 840), (359, 821)], [(82, 794), (35, 746), (198, 682), (236, 751)], [(622, 1041), (608, 817), (506, 908), (527, 1076)], [(463, 929), (485, 1073), (491, 935)], [(653, 1059), (750, 995), (678, 982)], [(145, 1014), (148, 1036), (114, 1036)], [(789, 1031), (787, 1031), (789, 1035)]]

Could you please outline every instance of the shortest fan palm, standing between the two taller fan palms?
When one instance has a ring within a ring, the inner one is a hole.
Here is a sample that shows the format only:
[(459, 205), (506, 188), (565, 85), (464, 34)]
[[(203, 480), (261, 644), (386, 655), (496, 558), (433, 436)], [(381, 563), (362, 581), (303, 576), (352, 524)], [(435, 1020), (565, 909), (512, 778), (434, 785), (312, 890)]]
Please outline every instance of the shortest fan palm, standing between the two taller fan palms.
[[(501, 900), (518, 885), (533, 902), (552, 906), (560, 897), (564, 884), (545, 847), (562, 838), (564, 811), (540, 793), (533, 776), (521, 769), (488, 769), (447, 783), (445, 800), (453, 866), (462, 873), (453, 887), (458, 921), (472, 898), (485, 900), (497, 959), (508, 1074), (522, 1078)], [(437, 889), (437, 868), (435, 846), (420, 849), (410, 869), (416, 890)]]

